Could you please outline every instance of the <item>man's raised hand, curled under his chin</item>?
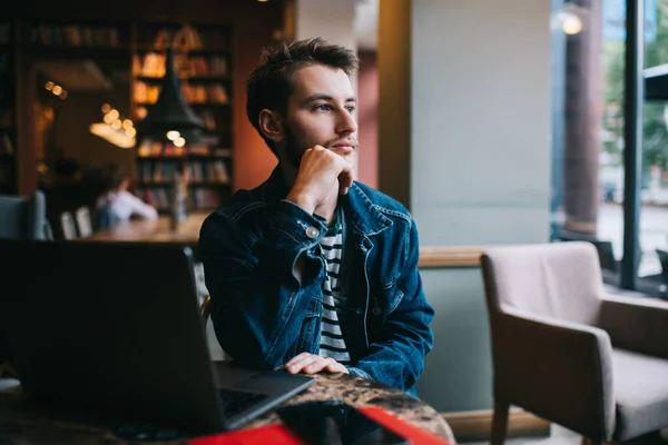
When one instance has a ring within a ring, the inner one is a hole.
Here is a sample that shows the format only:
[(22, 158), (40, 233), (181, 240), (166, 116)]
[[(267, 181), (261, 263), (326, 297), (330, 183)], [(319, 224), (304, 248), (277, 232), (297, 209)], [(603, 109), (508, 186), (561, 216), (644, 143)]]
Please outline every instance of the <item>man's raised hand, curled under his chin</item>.
[[(325, 201), (332, 200), (334, 190), (345, 195), (352, 185), (353, 166), (335, 152), (315, 146), (304, 152), (297, 178), (286, 199), (313, 214)], [(333, 201), (335, 205), (336, 199)]]

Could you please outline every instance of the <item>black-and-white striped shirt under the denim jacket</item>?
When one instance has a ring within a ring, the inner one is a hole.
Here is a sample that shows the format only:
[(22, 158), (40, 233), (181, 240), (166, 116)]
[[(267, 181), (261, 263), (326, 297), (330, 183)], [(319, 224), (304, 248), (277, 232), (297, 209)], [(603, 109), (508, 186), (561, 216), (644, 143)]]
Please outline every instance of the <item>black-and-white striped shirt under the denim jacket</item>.
[(321, 319), (320, 356), (331, 357), (342, 365), (351, 364), (351, 356), (345, 346), (345, 340), (338, 325), (336, 314), (336, 298), (341, 294), (338, 277), (341, 258), (343, 257), (343, 228), (337, 224), (327, 230), (320, 243), (321, 254), (325, 260), (327, 275), (323, 281), (323, 316)]

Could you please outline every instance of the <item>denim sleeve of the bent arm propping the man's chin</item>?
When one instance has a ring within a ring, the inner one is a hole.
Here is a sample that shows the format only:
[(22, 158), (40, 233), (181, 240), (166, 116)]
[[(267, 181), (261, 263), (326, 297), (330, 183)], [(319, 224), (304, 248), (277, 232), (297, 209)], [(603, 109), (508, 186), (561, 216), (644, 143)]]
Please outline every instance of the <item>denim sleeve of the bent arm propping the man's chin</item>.
[[(235, 216), (217, 211), (205, 220), (197, 249), (220, 346), (240, 365), (259, 368), (283, 364), (299, 334), (320, 290), (323, 265), (314, 250), (326, 231), (285, 200), (268, 210), (268, 233), (256, 240)], [(299, 280), (294, 266), (301, 255)]]

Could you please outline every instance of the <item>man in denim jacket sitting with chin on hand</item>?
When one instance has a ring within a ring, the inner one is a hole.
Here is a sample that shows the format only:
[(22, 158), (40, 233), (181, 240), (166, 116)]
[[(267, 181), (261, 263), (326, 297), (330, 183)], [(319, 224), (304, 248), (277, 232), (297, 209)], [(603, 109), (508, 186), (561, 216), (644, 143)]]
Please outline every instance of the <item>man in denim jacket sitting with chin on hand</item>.
[(433, 309), (407, 210), (353, 180), (356, 68), (322, 39), (265, 52), (247, 115), (278, 167), (206, 219), (198, 251), (216, 336), (242, 365), (350, 373), (415, 394)]

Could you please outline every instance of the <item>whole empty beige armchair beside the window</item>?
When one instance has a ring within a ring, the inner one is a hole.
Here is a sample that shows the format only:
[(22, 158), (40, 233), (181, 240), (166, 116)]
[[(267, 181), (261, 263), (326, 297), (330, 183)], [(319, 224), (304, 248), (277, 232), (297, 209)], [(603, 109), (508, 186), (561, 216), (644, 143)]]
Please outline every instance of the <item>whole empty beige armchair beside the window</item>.
[(668, 426), (668, 304), (607, 295), (596, 248), (558, 243), (488, 249), (494, 419), (520, 406), (589, 443)]

